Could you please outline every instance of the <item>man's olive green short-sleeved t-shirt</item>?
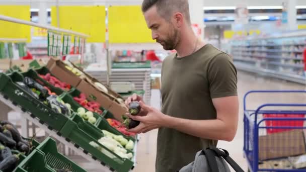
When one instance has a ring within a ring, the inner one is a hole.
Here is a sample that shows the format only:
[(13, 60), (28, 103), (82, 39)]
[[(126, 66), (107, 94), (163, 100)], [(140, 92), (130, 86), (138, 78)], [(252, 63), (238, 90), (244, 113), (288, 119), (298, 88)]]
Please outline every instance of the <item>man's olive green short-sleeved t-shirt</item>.
[[(229, 55), (206, 44), (189, 56), (178, 58), (174, 54), (164, 60), (161, 92), (162, 112), (166, 115), (216, 119), (212, 99), (237, 96), (237, 70)], [(194, 160), (196, 152), (216, 144), (217, 140), (160, 128), (156, 171), (178, 171)]]

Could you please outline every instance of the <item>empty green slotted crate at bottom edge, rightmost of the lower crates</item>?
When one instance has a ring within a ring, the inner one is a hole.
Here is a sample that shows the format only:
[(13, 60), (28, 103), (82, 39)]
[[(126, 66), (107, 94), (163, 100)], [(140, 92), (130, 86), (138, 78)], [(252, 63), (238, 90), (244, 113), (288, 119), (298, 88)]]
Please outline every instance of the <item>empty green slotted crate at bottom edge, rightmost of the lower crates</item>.
[(52, 169), (67, 168), (72, 172), (85, 172), (83, 168), (69, 160), (67, 157), (57, 151), (56, 141), (48, 137), (36, 149), (45, 154), (46, 162)]

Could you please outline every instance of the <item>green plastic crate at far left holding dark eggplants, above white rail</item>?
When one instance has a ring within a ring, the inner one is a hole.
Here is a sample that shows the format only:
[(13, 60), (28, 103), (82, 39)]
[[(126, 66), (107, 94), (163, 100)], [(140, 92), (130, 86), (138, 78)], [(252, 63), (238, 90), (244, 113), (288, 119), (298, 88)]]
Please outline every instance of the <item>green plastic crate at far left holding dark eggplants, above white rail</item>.
[(16, 81), (23, 81), (24, 77), (18, 72), (10, 75), (0, 73), (0, 93), (10, 99), (13, 104), (18, 104), (23, 111), (29, 111), (33, 117), (38, 117), (49, 125), (49, 129), (59, 131), (67, 122), (68, 117), (55, 113), (51, 108), (24, 91)]

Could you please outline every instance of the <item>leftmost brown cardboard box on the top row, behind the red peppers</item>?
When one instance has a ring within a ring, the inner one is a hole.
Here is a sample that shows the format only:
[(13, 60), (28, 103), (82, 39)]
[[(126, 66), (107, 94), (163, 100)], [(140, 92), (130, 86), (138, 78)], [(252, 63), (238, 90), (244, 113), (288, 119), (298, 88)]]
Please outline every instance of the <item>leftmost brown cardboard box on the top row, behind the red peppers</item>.
[(65, 81), (76, 88), (82, 79), (72, 71), (68, 70), (65, 66), (66, 64), (61, 60), (51, 57), (46, 67), (59, 80)]

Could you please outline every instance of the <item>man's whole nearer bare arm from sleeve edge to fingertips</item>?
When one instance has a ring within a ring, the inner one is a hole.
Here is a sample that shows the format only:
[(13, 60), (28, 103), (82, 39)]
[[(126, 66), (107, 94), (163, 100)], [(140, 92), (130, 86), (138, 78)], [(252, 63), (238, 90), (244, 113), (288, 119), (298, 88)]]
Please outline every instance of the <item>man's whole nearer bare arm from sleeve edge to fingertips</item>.
[(236, 135), (238, 125), (238, 97), (215, 98), (212, 102), (217, 113), (217, 118), (215, 120), (188, 120), (175, 118), (165, 115), (159, 110), (140, 102), (141, 108), (147, 112), (147, 115), (132, 116), (127, 114), (127, 116), (133, 120), (141, 122), (136, 128), (130, 129), (129, 131), (145, 133), (152, 129), (167, 127), (196, 137), (232, 141)]

